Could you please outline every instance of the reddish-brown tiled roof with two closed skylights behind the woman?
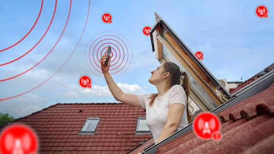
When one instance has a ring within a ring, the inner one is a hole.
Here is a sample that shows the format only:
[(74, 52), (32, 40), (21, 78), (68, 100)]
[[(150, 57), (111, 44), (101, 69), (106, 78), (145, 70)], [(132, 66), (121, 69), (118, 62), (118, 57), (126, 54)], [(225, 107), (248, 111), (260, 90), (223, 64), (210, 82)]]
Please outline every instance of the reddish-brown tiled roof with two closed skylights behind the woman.
[[(95, 134), (79, 135), (88, 117), (101, 117)], [(16, 122), (38, 133), (40, 154), (126, 154), (152, 138), (135, 134), (137, 117), (145, 111), (122, 103), (58, 103)]]

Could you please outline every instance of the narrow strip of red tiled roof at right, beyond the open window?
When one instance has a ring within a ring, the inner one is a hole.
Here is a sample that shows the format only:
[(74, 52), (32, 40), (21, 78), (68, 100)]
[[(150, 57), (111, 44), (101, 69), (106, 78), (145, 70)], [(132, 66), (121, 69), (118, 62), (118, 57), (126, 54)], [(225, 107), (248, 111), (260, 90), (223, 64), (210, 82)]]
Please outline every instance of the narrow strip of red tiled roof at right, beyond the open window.
[(241, 88), (246, 87), (247, 85), (251, 84), (253, 81), (259, 79), (261, 76), (265, 75), (266, 73), (270, 72), (274, 70), (274, 63), (268, 67), (266, 67), (264, 70), (262, 70), (261, 72), (257, 73), (256, 75), (252, 76), (250, 79), (246, 80), (245, 82), (241, 83), (240, 85), (238, 85), (236, 88), (230, 88), (229, 92), (231, 94), (239, 91)]

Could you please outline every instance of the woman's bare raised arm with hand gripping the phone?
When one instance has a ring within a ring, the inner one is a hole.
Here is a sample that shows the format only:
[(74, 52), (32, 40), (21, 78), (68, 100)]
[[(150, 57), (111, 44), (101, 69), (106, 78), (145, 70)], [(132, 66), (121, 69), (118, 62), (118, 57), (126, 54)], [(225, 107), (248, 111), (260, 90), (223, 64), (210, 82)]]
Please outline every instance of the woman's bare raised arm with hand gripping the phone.
[(141, 104), (138, 101), (137, 95), (135, 94), (128, 94), (124, 93), (121, 88), (117, 86), (117, 84), (114, 82), (111, 74), (109, 73), (109, 67), (110, 67), (110, 62), (111, 62), (111, 57), (109, 59), (108, 65), (105, 66), (103, 63), (106, 61), (107, 55), (103, 55), (101, 57), (101, 68), (102, 72), (104, 74), (104, 77), (106, 79), (106, 82), (108, 84), (108, 87), (114, 96), (116, 101), (120, 101), (124, 104), (128, 104), (134, 107), (139, 107), (142, 108)]

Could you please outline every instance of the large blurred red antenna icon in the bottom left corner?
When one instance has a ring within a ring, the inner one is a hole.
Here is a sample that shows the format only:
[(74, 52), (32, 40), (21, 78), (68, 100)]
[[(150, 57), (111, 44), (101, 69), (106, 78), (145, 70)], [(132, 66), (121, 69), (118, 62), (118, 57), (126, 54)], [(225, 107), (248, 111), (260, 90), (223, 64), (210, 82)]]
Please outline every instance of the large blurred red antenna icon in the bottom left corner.
[(1, 154), (37, 154), (38, 138), (24, 125), (8, 126), (0, 134)]

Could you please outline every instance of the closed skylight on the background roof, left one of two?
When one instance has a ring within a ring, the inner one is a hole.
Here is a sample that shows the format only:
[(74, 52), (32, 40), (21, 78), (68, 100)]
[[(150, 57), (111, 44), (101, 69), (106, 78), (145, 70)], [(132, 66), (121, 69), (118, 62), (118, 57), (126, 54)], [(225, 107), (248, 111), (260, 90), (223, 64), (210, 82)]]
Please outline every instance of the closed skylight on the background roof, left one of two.
[(94, 134), (100, 118), (87, 118), (79, 134)]

